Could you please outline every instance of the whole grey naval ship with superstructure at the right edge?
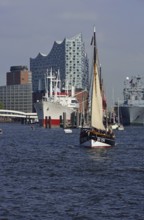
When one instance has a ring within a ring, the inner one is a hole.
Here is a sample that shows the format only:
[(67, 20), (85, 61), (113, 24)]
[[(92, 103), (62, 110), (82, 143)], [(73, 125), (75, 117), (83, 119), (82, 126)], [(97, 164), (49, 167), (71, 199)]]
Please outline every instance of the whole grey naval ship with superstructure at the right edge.
[(124, 101), (119, 104), (123, 125), (144, 125), (144, 76), (126, 77)]

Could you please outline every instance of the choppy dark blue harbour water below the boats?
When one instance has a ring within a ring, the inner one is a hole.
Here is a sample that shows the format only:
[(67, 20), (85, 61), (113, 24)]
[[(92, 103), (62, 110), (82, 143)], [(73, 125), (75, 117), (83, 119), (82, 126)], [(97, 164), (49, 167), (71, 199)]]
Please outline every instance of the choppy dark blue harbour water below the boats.
[(79, 147), (77, 129), (0, 127), (0, 220), (144, 219), (144, 127), (105, 150)]

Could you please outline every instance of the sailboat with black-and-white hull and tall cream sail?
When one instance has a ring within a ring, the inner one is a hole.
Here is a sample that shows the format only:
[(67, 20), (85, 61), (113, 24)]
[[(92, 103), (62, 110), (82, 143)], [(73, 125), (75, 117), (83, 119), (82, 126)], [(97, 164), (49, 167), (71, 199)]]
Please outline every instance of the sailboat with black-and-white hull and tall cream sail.
[(99, 80), (99, 68), (96, 48), (96, 31), (92, 37), (93, 72), (89, 95), (89, 123), (80, 130), (80, 145), (90, 148), (103, 148), (115, 145), (115, 135), (103, 123), (102, 93)]

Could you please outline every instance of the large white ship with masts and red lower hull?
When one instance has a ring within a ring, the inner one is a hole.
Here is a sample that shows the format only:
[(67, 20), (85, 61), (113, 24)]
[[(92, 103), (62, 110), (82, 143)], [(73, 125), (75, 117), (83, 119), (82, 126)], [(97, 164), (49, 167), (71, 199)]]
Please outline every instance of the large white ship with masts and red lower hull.
[(69, 123), (72, 113), (77, 112), (79, 109), (74, 88), (72, 87), (71, 94), (69, 94), (68, 89), (65, 92), (61, 92), (59, 73), (56, 76), (52, 73), (52, 70), (50, 74), (46, 74), (45, 87), (45, 96), (34, 104), (39, 124), (43, 127), (60, 127), (64, 114), (66, 122)]

